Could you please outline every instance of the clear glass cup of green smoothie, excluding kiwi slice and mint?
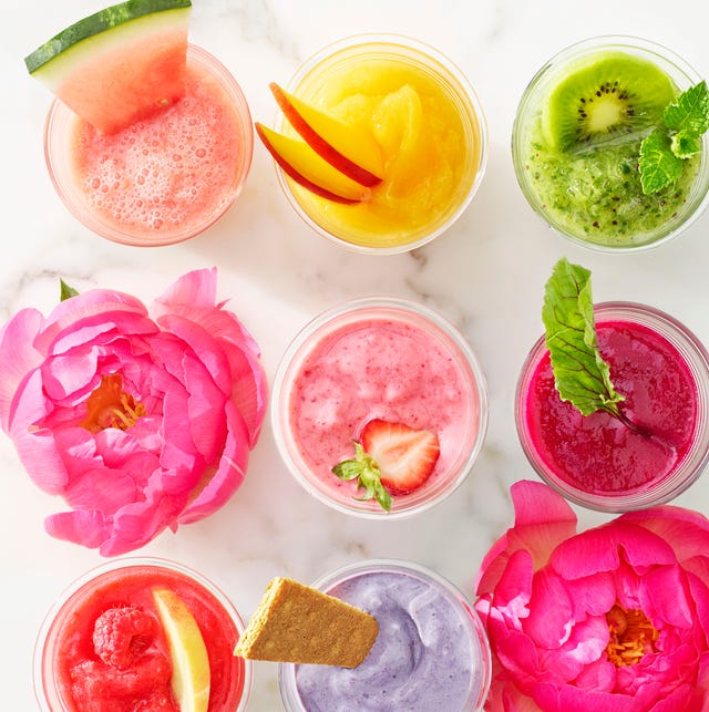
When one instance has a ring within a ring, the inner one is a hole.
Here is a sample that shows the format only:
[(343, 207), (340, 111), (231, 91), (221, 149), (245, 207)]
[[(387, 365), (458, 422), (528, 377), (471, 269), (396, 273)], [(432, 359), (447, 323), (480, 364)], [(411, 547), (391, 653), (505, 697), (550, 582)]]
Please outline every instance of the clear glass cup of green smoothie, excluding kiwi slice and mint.
[[(546, 62), (525, 89), (512, 132), (512, 157), (525, 198), (553, 229), (595, 250), (631, 252), (665, 244), (701, 215), (709, 190), (709, 140), (703, 136), (701, 154), (685, 162), (682, 176), (671, 187), (650, 195), (643, 194), (638, 172), (640, 141), (650, 128), (596, 146), (552, 148), (545, 136), (545, 102), (559, 79), (588, 58), (617, 52), (654, 63), (677, 93), (701, 79), (670, 50), (647, 40), (597, 37), (573, 44)], [(598, 101), (592, 92), (583, 101), (593, 99)], [(577, 112), (583, 106), (579, 103)]]

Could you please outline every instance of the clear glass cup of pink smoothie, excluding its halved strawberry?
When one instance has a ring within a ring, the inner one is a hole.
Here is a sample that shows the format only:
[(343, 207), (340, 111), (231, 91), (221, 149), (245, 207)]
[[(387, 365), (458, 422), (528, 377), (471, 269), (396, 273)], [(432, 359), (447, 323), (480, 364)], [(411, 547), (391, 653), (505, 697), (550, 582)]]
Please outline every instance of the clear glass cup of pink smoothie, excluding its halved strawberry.
[[(436, 312), (403, 299), (348, 301), (310, 321), (286, 350), (270, 409), (276, 445), (296, 481), (339, 512), (403, 517), (432, 507), (465, 478), (484, 441), (487, 399), (465, 338)], [(354, 457), (370, 420), (434, 431), (430, 477), (393, 496), (391, 510), (362, 501), (332, 474)]]

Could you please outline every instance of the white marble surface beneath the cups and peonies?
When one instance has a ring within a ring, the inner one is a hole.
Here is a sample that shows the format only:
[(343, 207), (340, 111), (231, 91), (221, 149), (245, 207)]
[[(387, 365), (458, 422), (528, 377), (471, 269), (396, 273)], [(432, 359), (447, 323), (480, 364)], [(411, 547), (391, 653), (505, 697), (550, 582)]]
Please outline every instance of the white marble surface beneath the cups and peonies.
[[(270, 426), (247, 482), (209, 519), (164, 534), (143, 549), (175, 558), (220, 584), (244, 617), (267, 581), (310, 581), (363, 557), (412, 559), (472, 596), (489, 545), (512, 522), (508, 486), (533, 477), (513, 423), (516, 376), (541, 333), (544, 281), (566, 255), (593, 270), (597, 300), (654, 305), (709, 343), (709, 214), (677, 240), (634, 256), (600, 255), (563, 240), (527, 207), (510, 157), (517, 100), (536, 69), (563, 47), (595, 34), (636, 34), (666, 44), (709, 76), (709, 6), (703, 0), (195, 0), (191, 40), (236, 75), (255, 118), (269, 121), (271, 80), (286, 82), (321, 45), (367, 31), (427, 41), (467, 74), (485, 107), (490, 155), (482, 187), (462, 219), (414, 254), (361, 256), (311, 233), (281, 195), (273, 163), (256, 145), (245, 192), (203, 236), (174, 247), (141, 249), (105, 241), (78, 224), (53, 192), (43, 163), (42, 127), (51, 97), (22, 58), (101, 0), (0, 0), (2, 169), (0, 171), (0, 320), (22, 307), (48, 312), (59, 278), (85, 290), (101, 286), (144, 300), (178, 275), (216, 265), (219, 296), (253, 331), (273, 379), (296, 331), (346, 298), (386, 293), (425, 302), (459, 324), (486, 374), (490, 426), (463, 486), (431, 512), (403, 522), (349, 518), (302, 492), (285, 472)], [(48, 537), (45, 515), (61, 503), (39, 492), (0, 437), (0, 679), (3, 710), (35, 708), (31, 659), (35, 631), (56, 595), (100, 563), (95, 551)], [(709, 514), (709, 475), (677, 503)], [(578, 510), (583, 525), (604, 515)], [(249, 710), (280, 709), (276, 667), (256, 667)]]

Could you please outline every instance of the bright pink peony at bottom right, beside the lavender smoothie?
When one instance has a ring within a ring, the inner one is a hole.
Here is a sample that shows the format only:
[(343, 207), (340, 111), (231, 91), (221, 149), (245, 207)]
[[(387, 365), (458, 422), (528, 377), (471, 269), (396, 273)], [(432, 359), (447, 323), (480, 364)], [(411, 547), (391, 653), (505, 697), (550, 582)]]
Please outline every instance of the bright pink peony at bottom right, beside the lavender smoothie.
[(660, 506), (577, 534), (546, 485), (518, 482), (512, 499), (477, 578), (486, 709), (709, 709), (709, 520)]

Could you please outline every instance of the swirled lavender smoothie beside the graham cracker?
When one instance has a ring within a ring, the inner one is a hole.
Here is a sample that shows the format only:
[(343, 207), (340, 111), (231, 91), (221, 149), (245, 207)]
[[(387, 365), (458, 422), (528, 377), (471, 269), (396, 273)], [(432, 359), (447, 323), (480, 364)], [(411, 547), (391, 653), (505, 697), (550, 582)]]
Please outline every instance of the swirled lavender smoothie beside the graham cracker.
[(431, 584), (376, 571), (328, 591), (371, 613), (379, 636), (354, 669), (297, 665), (309, 712), (463, 710), (476, 679), (470, 620)]

